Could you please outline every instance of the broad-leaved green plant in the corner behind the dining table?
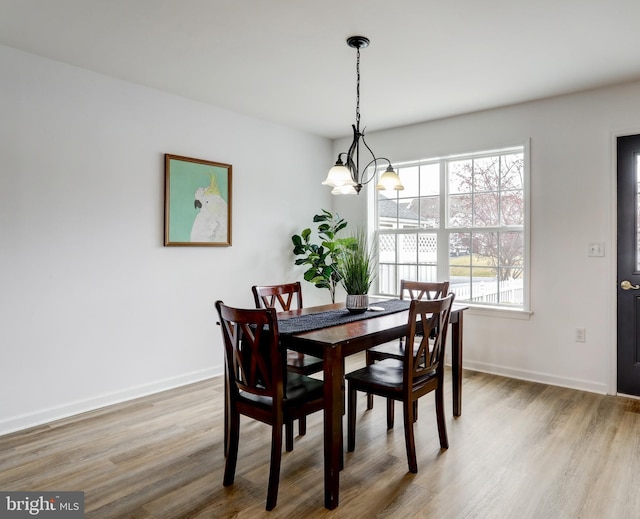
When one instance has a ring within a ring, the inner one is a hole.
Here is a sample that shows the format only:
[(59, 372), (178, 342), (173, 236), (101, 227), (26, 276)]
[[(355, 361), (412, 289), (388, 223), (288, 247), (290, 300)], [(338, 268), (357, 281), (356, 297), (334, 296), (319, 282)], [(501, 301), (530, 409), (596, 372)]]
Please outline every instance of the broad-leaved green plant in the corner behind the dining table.
[(304, 229), (300, 234), (291, 237), (293, 254), (301, 256), (295, 260), (296, 265), (308, 265), (304, 279), (318, 288), (326, 288), (331, 294), (331, 302), (335, 303), (336, 286), (340, 282), (337, 265), (341, 251), (353, 243), (353, 238), (337, 238), (347, 222), (322, 209), (322, 214), (313, 217), (318, 225), (320, 244), (311, 242), (311, 229)]

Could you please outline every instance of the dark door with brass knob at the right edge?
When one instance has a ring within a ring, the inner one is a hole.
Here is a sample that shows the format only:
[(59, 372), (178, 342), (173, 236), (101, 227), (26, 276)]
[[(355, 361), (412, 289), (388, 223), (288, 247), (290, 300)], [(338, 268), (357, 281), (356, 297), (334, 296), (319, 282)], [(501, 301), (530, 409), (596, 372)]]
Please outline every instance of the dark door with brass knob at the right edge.
[(640, 396), (640, 135), (618, 137), (618, 393)]

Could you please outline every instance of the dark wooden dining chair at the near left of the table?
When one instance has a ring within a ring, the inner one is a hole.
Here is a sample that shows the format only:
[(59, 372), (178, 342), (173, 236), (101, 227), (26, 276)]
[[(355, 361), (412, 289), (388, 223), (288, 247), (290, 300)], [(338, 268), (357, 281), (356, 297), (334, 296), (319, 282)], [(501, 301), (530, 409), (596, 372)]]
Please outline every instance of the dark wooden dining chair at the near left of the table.
[[(324, 408), (322, 381), (288, 372), (274, 308), (239, 309), (216, 301), (225, 349), (228, 451), (224, 486), (233, 484), (238, 460), (240, 415), (271, 426), (267, 510), (278, 499), (282, 426)], [(287, 434), (286, 442), (291, 441)]]

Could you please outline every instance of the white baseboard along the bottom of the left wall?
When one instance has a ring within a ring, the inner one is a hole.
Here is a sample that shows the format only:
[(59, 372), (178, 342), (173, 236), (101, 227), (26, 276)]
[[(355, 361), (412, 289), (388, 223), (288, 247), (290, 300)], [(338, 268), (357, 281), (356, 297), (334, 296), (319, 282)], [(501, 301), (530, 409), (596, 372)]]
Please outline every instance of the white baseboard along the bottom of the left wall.
[(95, 411), (102, 407), (126, 402), (143, 396), (166, 391), (175, 387), (186, 386), (194, 382), (199, 382), (222, 374), (222, 366), (218, 368), (207, 368), (191, 373), (185, 373), (177, 377), (158, 380), (142, 386), (129, 387), (121, 391), (92, 397), (87, 400), (80, 400), (67, 403), (61, 406), (41, 409), (33, 413), (14, 416), (0, 420), (0, 436), (15, 431), (21, 431), (29, 427), (43, 425), (63, 418), (68, 418), (88, 411)]

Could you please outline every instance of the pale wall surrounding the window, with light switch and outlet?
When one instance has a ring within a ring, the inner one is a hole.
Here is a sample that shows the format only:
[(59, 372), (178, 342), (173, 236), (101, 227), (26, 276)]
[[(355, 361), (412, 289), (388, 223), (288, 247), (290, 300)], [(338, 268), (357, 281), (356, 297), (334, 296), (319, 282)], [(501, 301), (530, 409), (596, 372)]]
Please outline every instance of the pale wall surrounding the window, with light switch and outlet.
[[(628, 133), (640, 133), (640, 83), (368, 135), (376, 153), (398, 162), (530, 139), (533, 314), (468, 312), (465, 367), (615, 393), (614, 136)], [(334, 143), (334, 155), (346, 146)], [(334, 207), (355, 223), (362, 203)], [(604, 242), (606, 256), (587, 257), (590, 242)], [(585, 343), (575, 342), (577, 327)]]

